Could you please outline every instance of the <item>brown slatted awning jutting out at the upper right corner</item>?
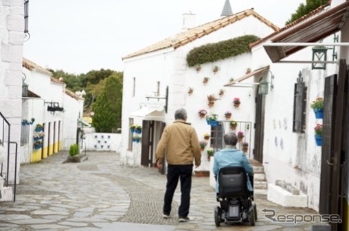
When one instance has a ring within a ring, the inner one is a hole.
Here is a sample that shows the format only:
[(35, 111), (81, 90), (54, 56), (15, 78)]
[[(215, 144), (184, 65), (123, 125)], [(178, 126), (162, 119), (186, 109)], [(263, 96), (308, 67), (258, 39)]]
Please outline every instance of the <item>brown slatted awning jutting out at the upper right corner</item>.
[[(348, 21), (348, 10), (349, 1), (346, 1), (315, 15), (315, 17), (295, 24), (289, 30), (276, 34), (271, 37), (271, 43), (315, 43), (335, 32), (339, 32)], [(273, 63), (304, 48), (304, 46), (297, 45), (275, 47), (268, 46), (268, 43), (264, 43), (263, 46)]]

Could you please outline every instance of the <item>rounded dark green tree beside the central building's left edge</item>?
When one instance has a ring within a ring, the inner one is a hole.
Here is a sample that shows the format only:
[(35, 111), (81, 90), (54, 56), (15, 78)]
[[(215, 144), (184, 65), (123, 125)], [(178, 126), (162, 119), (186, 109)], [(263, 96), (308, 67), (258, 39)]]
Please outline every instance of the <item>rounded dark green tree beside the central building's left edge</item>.
[(105, 87), (92, 104), (94, 111), (92, 126), (97, 132), (116, 132), (121, 126), (122, 78), (112, 74), (106, 79)]

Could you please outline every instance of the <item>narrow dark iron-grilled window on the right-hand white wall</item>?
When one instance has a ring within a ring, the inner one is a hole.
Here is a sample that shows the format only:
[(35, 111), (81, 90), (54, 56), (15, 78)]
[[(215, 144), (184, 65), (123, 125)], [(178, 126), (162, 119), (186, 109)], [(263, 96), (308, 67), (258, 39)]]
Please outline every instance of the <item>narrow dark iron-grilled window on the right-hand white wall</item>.
[(295, 83), (295, 93), (293, 99), (293, 131), (296, 133), (304, 133), (306, 120), (306, 90), (307, 87), (303, 82), (303, 78), (297, 78)]

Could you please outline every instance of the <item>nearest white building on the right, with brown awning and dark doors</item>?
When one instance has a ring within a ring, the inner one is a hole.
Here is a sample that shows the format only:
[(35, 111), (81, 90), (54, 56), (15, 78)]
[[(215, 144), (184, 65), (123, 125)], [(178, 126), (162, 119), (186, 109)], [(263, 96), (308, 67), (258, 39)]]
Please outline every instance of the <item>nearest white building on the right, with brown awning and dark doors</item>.
[[(333, 230), (348, 230), (349, 221), (349, 107), (344, 87), (348, 85), (348, 10), (348, 1), (332, 1), (250, 45), (254, 69), (269, 66), (264, 76), (269, 94), (257, 103), (260, 126), (255, 130), (255, 154), (269, 186), (286, 181), (306, 195), (302, 206), (339, 214), (344, 222), (331, 223)], [(313, 56), (315, 45), (327, 48), (319, 53), (327, 54), (326, 62), (324, 56)], [(324, 63), (326, 68), (321, 68)], [(253, 80), (260, 82), (257, 77)], [(324, 118), (315, 118), (310, 107), (318, 97), (324, 98)], [(315, 142), (316, 124), (324, 126), (322, 146)], [(285, 197), (289, 194), (269, 189), (271, 201), (278, 203)], [(295, 205), (289, 202), (287, 206)]]

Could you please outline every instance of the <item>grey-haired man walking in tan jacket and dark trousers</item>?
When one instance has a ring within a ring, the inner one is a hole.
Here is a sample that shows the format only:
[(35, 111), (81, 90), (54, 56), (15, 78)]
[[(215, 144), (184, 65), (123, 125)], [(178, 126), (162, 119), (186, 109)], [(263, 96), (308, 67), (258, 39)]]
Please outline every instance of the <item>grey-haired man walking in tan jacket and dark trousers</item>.
[(157, 167), (162, 167), (165, 151), (168, 163), (163, 208), (163, 217), (166, 219), (170, 216), (172, 199), (178, 180), (181, 181), (179, 222), (189, 221), (193, 161), (196, 168), (201, 164), (199, 139), (195, 129), (186, 122), (187, 118), (185, 109), (175, 111), (175, 122), (165, 127), (156, 151)]

